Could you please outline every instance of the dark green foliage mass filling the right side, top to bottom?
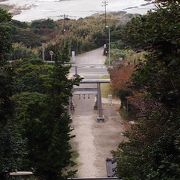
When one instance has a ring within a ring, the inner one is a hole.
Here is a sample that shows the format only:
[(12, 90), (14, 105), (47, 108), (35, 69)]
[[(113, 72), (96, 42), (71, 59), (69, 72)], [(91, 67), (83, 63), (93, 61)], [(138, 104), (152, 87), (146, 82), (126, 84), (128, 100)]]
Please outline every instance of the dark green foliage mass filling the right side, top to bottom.
[(148, 55), (131, 86), (141, 94), (137, 122), (115, 153), (123, 179), (180, 178), (180, 5), (169, 2), (124, 29), (124, 41)]

